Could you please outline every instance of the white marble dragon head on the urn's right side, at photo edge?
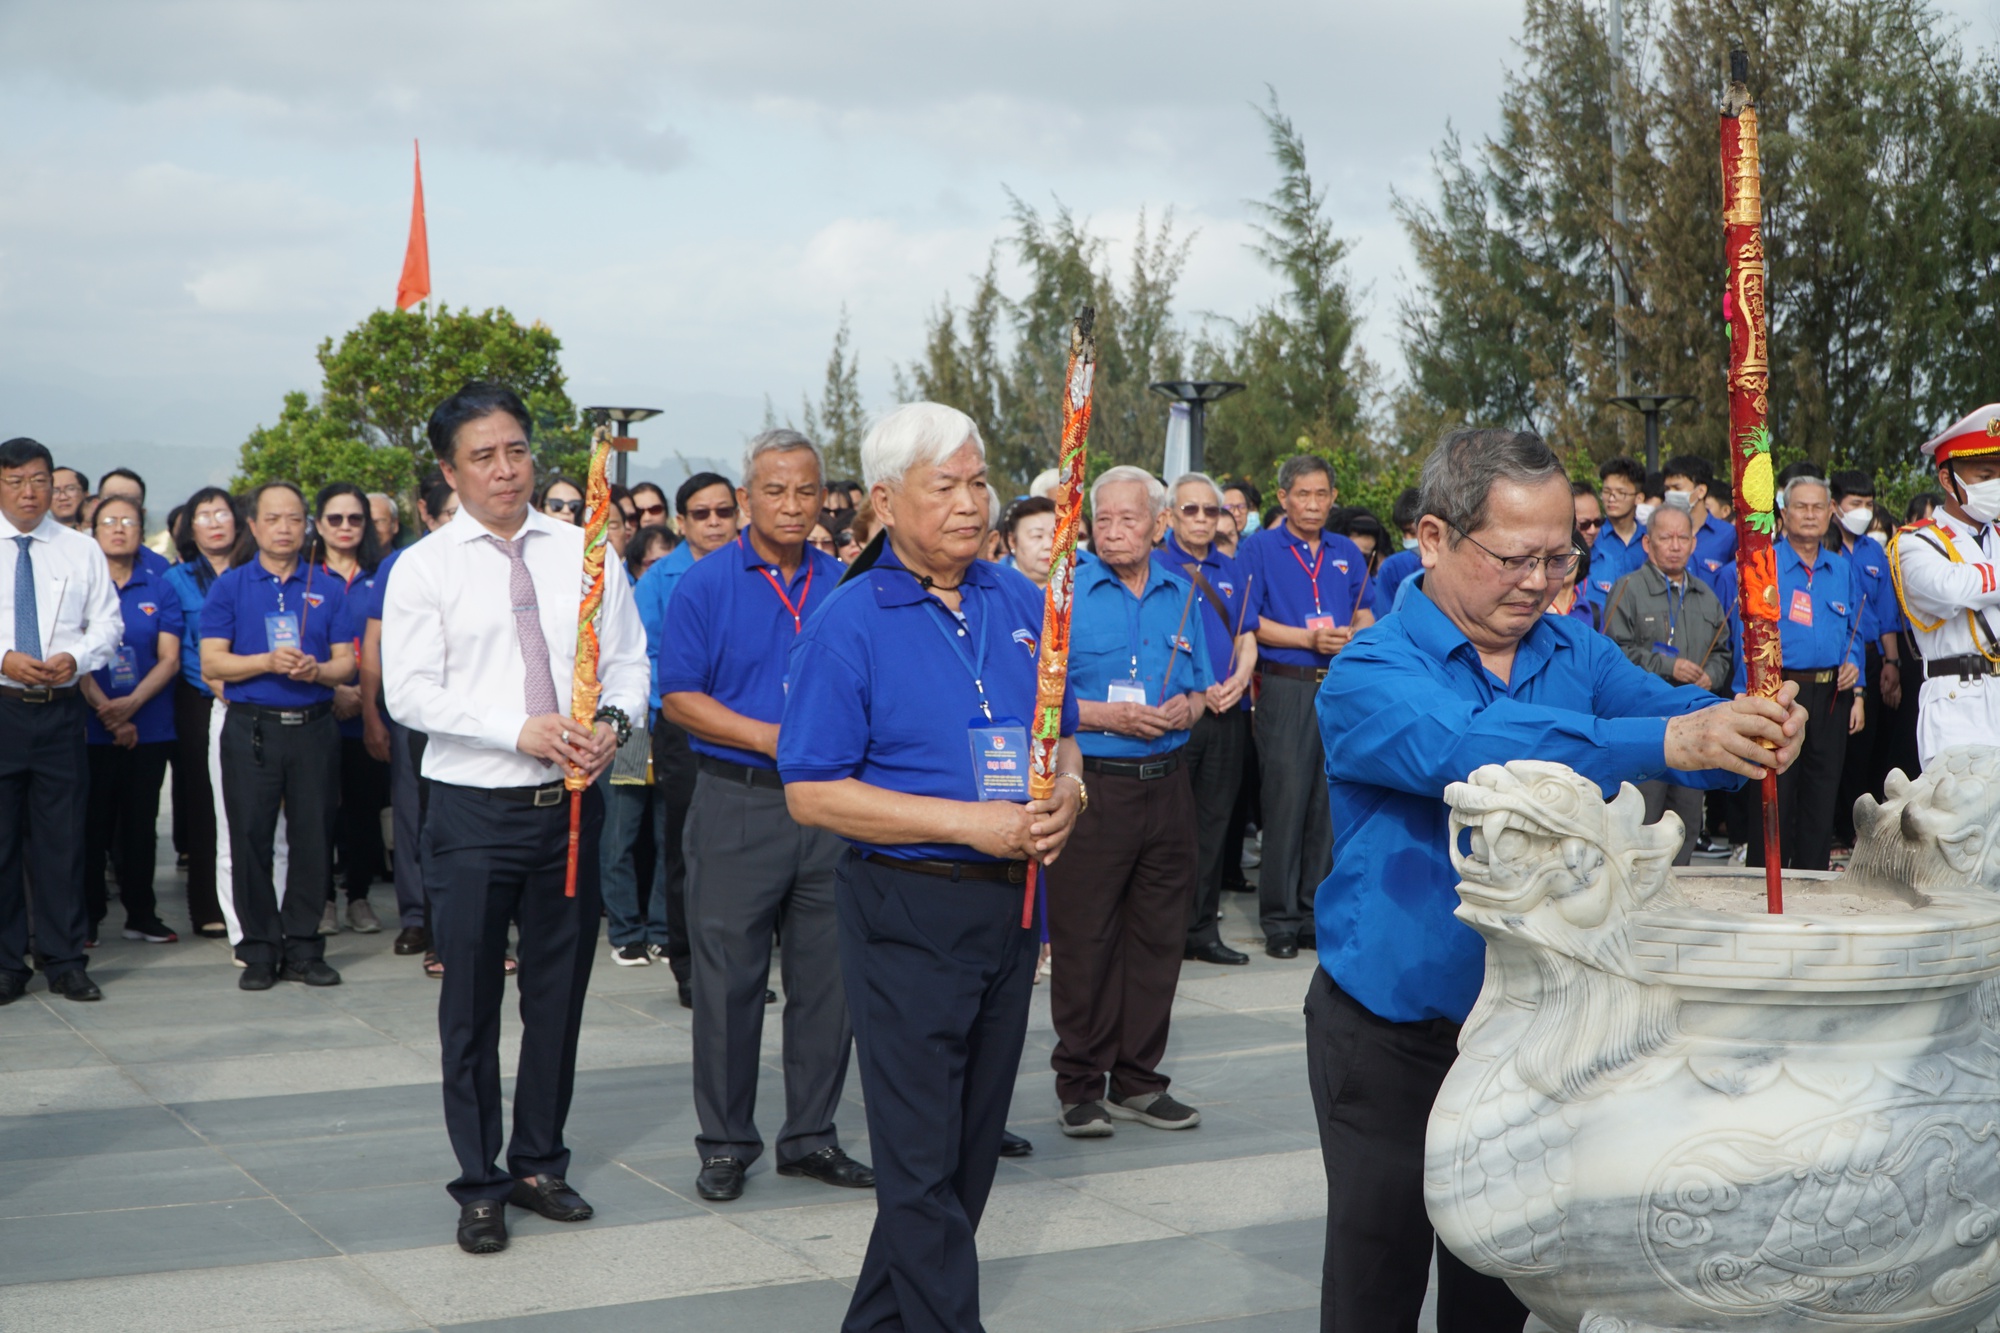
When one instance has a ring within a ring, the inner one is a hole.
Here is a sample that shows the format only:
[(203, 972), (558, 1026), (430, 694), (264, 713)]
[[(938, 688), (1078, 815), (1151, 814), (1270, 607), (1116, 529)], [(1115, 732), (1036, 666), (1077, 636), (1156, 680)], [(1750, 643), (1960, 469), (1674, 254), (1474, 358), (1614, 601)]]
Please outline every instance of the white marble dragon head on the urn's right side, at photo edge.
[(1914, 779), (1890, 773), (1884, 791), (1854, 803), (1850, 879), (2000, 893), (2000, 749), (1954, 745)]

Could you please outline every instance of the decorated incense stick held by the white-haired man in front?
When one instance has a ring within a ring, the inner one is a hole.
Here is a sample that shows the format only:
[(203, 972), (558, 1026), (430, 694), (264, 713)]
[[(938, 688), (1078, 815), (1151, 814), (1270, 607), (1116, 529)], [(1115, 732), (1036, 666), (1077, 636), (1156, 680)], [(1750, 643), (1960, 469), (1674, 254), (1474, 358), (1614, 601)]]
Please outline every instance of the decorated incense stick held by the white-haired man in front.
[[(1090, 386), (1098, 368), (1096, 310), (1070, 324), (1070, 368), (1062, 378), (1062, 454), (1056, 462), (1056, 548), (1048, 556), (1042, 644), (1034, 673), (1034, 737), (1028, 741), (1028, 799), (1056, 795), (1056, 747), (1062, 743), (1062, 695), (1070, 681), (1070, 594), (1076, 588), (1076, 534), (1084, 524), (1084, 436), (1090, 434)], [(1020, 901), (1020, 929), (1034, 927), (1036, 863)]]

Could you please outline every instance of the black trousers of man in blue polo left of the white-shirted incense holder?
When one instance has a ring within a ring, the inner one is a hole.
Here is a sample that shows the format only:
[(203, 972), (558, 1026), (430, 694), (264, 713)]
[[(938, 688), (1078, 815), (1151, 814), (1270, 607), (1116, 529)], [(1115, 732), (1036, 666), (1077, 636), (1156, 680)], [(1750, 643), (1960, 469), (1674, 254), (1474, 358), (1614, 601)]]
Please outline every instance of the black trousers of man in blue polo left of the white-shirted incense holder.
[[(340, 729), (332, 715), (300, 727), (232, 705), (222, 723), (222, 809), (230, 817), (230, 897), (244, 937), (244, 963), (306, 963), (326, 957), (320, 911), (334, 891), (334, 801)], [(272, 881), (278, 811), (290, 835), (284, 907)]]

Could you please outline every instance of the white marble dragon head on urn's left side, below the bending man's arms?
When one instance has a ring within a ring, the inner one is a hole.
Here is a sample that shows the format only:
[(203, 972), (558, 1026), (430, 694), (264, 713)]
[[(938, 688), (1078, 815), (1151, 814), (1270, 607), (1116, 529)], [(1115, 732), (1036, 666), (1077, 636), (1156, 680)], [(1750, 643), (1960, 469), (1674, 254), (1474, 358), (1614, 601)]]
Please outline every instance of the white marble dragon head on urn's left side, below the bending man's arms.
[(1564, 765), (1486, 765), (1444, 789), (1452, 807), (1458, 919), (1494, 943), (1538, 945), (1620, 977), (1636, 977), (1626, 915), (1682, 903), (1672, 863), (1678, 819), (1646, 825), (1646, 801)]

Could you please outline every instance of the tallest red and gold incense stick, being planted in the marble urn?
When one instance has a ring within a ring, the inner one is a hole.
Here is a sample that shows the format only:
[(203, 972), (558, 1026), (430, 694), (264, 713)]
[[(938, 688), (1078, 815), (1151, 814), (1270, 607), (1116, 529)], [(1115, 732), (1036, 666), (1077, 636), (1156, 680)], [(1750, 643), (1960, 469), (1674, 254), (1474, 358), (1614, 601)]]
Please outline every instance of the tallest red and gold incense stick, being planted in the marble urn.
[[(1730, 326), (1730, 466), (1736, 480), (1736, 606), (1744, 622), (1744, 675), (1750, 695), (1776, 699), (1784, 685), (1778, 642), (1778, 514), (1770, 470), (1770, 350), (1764, 320), (1764, 192), (1758, 176), (1756, 106), (1750, 60), (1730, 52), (1722, 96), (1722, 244), (1730, 280), (1722, 314)], [(1784, 911), (1778, 847), (1778, 775), (1764, 773), (1764, 897)]]

